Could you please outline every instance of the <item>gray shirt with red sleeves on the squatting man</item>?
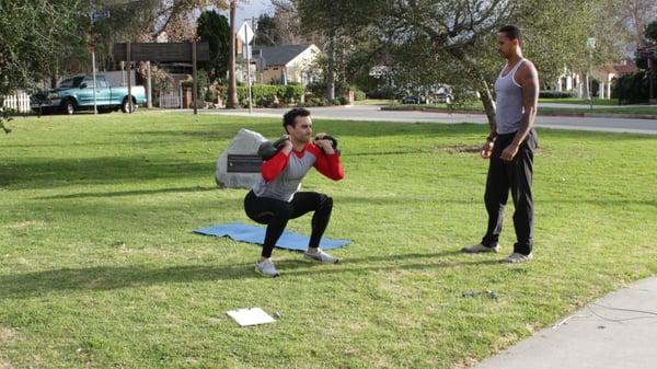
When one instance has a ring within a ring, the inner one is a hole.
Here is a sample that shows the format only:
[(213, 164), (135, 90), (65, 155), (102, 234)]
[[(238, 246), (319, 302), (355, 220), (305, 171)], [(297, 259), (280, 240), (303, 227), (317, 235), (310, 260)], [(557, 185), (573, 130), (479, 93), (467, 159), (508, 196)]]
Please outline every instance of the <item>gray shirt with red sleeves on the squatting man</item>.
[(312, 166), (334, 181), (345, 176), (337, 153), (325, 154), (322, 149), (309, 142), (301, 152), (292, 150), (289, 154), (285, 154), (280, 150), (269, 160), (265, 160), (261, 168), (261, 176), (253, 185), (253, 193), (257, 197), (289, 203), (299, 191), (301, 180)]

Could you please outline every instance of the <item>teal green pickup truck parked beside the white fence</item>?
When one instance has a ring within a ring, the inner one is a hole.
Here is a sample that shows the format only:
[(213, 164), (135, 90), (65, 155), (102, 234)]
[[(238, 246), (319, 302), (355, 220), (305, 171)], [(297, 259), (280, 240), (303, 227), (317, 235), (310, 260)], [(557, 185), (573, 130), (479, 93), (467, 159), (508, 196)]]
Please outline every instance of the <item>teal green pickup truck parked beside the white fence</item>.
[[(66, 79), (59, 87), (48, 92), (33, 94), (31, 107), (37, 113), (64, 112), (73, 114), (77, 111), (93, 111), (93, 78), (78, 76)], [(139, 105), (146, 103), (146, 92), (142, 85), (130, 88), (113, 88), (105, 77), (96, 76), (95, 101), (99, 113), (118, 111), (132, 113)], [(132, 104), (130, 104), (130, 100)]]

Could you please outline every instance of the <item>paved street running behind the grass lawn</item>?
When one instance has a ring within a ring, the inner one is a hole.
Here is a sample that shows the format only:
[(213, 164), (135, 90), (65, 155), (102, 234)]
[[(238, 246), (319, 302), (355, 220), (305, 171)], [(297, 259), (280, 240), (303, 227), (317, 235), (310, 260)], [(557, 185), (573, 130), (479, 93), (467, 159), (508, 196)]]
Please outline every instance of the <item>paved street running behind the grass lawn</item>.
[[(199, 111), (200, 114), (224, 114), (224, 115), (252, 115), (280, 117), (288, 108), (254, 108), (253, 114), (249, 109), (215, 109)], [(485, 124), (486, 117), (481, 114), (447, 114), (433, 112), (389, 112), (381, 111), (376, 105), (353, 106), (322, 106), (312, 107), (310, 111), (315, 118), (344, 119), (344, 120), (379, 120), (379, 122), (404, 122), (404, 123), (480, 123)], [(181, 111), (172, 111), (181, 112)], [(185, 109), (182, 112), (191, 112)], [(539, 111), (540, 112), (540, 111)], [(561, 117), (541, 116), (537, 118), (537, 126), (542, 128), (595, 130), (613, 132), (633, 132), (657, 135), (657, 119), (631, 119), (609, 117)]]

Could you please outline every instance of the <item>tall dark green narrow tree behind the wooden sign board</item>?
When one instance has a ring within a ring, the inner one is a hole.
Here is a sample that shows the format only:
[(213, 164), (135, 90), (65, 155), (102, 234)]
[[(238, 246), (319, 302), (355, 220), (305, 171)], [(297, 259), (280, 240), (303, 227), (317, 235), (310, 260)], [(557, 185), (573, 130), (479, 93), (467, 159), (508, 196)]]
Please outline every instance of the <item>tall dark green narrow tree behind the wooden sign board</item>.
[(201, 65), (211, 82), (224, 78), (228, 71), (230, 26), (226, 15), (206, 11), (198, 18), (196, 34), (210, 46), (210, 60)]

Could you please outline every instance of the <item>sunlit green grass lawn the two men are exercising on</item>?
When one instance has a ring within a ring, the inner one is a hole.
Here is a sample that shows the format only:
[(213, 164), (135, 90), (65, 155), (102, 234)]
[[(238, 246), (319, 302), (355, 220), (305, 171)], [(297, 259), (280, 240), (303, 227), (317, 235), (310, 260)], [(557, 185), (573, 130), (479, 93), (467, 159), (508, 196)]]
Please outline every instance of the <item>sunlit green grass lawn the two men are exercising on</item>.
[[(0, 137), (0, 368), (463, 368), (657, 272), (655, 138), (540, 130), (535, 258), (463, 255), (486, 215), (481, 125), (314, 122), (341, 139), (336, 265), (193, 234), (250, 222), (217, 155), (277, 118), (20, 118)], [(289, 223), (309, 231), (310, 217)], [(486, 291), (494, 291), (492, 299)], [(474, 297), (470, 297), (470, 292)], [(463, 296), (465, 293), (465, 297)], [(261, 307), (274, 324), (226, 311)]]

